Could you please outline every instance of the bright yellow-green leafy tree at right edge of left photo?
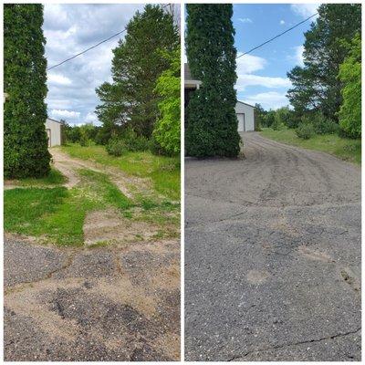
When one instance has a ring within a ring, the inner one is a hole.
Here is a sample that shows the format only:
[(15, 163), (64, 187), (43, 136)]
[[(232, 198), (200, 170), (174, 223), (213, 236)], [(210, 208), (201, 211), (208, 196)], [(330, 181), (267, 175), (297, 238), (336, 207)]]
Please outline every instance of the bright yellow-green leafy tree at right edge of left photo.
[(156, 92), (162, 97), (159, 102), (160, 119), (153, 130), (153, 137), (163, 151), (170, 155), (180, 152), (180, 47), (166, 54), (171, 66), (157, 79)]

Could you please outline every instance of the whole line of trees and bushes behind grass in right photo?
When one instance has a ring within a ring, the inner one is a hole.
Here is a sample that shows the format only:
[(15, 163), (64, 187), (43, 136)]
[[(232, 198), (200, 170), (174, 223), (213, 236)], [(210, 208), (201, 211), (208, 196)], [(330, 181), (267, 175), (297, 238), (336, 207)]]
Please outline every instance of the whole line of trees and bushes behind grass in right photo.
[(297, 136), (339, 133), (361, 136), (361, 5), (323, 4), (305, 33), (304, 66), (287, 73), (292, 108), (263, 110), (256, 120), (278, 130), (295, 128)]

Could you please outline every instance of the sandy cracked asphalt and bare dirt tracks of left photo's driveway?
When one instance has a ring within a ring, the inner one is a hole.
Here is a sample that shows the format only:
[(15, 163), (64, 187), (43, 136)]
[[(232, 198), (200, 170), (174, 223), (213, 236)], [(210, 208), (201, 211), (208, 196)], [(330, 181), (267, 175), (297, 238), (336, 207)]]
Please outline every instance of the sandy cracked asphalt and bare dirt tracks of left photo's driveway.
[[(69, 188), (78, 168), (99, 168), (54, 157)], [(132, 179), (103, 172), (128, 193)], [(180, 359), (179, 240), (126, 244), (120, 231), (130, 225), (101, 218), (88, 218), (84, 231), (85, 239), (92, 231), (113, 241), (102, 247), (57, 248), (5, 235), (5, 360)]]

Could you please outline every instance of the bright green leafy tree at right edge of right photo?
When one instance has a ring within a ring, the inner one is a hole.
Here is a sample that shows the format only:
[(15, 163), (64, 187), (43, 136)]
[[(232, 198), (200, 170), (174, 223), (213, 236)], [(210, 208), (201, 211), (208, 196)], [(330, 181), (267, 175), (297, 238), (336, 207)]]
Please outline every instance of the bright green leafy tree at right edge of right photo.
[(342, 104), (339, 125), (352, 138), (361, 137), (361, 38), (357, 34), (351, 42), (349, 56), (339, 67)]

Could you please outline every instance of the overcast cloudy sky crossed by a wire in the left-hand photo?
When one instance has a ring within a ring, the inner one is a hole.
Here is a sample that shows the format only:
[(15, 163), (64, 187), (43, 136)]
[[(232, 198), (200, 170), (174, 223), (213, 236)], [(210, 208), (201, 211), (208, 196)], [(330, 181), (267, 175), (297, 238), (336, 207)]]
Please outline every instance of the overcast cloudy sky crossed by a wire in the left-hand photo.
[[(143, 5), (135, 4), (46, 4), (43, 29), (47, 66), (52, 67), (119, 32), (142, 8)], [(117, 47), (118, 40), (117, 36), (50, 70), (46, 101), (51, 118), (62, 118), (70, 124), (97, 122), (93, 117), (99, 104), (95, 88), (110, 81), (112, 49)]]

